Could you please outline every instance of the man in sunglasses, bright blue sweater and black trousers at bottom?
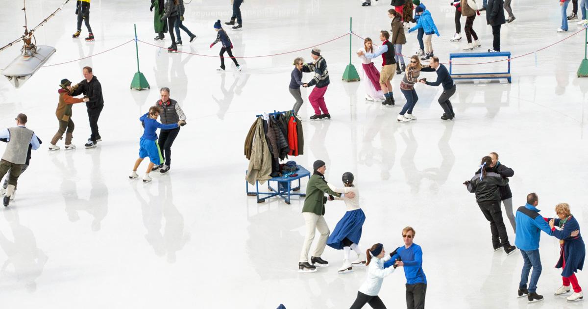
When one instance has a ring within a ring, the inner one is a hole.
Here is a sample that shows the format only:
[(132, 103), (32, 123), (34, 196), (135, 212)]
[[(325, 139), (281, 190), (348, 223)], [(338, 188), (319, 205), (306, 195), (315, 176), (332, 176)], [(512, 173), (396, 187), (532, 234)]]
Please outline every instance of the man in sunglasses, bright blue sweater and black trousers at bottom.
[(423, 271), (423, 250), (420, 245), (413, 243), (415, 230), (412, 227), (402, 229), (404, 247), (398, 247), (390, 253), (390, 260), (384, 263), (384, 268), (394, 266), (404, 267), (406, 277), (406, 307), (408, 309), (424, 309), (427, 293), (427, 277)]

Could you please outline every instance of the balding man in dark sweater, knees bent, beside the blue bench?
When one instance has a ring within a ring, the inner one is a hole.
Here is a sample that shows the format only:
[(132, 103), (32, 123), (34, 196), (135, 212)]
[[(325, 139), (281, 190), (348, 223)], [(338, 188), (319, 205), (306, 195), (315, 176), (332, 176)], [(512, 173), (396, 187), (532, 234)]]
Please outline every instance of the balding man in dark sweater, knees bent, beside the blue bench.
[(455, 113), (453, 112), (453, 105), (451, 105), (451, 101), (449, 98), (453, 94), (455, 94), (455, 83), (453, 82), (453, 78), (449, 75), (449, 71), (445, 65), (439, 63), (439, 58), (433, 56), (429, 59), (429, 65), (425, 65), (422, 69), (422, 72), (437, 72), (437, 80), (434, 82), (427, 82), (425, 78), (420, 79), (419, 82), (429, 86), (439, 86), (443, 84), (443, 93), (439, 96), (439, 105), (443, 108), (443, 116), (441, 119), (443, 120), (451, 120), (455, 117)]

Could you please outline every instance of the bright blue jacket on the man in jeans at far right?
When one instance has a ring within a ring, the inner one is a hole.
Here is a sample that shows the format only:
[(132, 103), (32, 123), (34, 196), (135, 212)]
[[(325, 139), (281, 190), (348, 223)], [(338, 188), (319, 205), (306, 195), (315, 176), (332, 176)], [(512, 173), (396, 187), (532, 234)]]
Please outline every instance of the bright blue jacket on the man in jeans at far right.
[(549, 224), (543, 220), (537, 208), (526, 204), (516, 211), (516, 238), (515, 245), (519, 250), (533, 251), (539, 249), (541, 231), (552, 235)]

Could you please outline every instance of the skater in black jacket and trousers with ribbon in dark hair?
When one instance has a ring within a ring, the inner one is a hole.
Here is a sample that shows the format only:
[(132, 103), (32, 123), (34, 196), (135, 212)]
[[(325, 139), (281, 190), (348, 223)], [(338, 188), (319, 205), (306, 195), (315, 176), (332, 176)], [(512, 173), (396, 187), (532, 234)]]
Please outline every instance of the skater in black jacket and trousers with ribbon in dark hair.
[(499, 250), (501, 247), (506, 254), (511, 254), (516, 250), (516, 247), (510, 245), (509, 237), (506, 234), (505, 222), (502, 219), (502, 211), (500, 211), (500, 190), (509, 183), (508, 178), (502, 178), (499, 174), (493, 171), (492, 158), (483, 157), (480, 163), (480, 169), (476, 172), (472, 180), (466, 181), (467, 191), (476, 194), (476, 202), (490, 222), (490, 231), (492, 231), (492, 246), (494, 250)]

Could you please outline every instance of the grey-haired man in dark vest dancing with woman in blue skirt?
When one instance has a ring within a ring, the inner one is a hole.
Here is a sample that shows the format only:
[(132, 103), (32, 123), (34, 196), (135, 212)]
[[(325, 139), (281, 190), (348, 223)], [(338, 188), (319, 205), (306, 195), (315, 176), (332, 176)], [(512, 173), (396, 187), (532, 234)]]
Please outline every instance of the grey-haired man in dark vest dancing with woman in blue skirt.
[[(155, 107), (161, 108), (159, 115), (161, 115), (162, 124), (175, 124), (182, 121), (182, 125), (186, 124), (186, 115), (178, 104), (178, 101), (169, 98), (169, 88), (163, 87), (159, 90), (161, 99), (155, 102)], [(161, 174), (166, 174), (172, 166), (172, 145), (180, 132), (180, 127), (172, 129), (159, 130), (158, 145), (165, 162), (153, 167), (153, 171), (159, 170)], [(161, 170), (160, 170), (161, 169)]]

